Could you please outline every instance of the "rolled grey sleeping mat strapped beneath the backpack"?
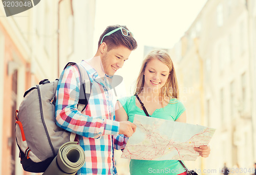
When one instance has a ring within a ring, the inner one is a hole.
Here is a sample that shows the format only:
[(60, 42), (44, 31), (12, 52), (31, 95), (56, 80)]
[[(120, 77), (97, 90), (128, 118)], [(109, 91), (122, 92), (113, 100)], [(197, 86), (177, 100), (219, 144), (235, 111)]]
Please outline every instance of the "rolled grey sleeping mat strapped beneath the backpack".
[(42, 175), (75, 175), (86, 161), (86, 155), (77, 142), (60, 146), (58, 155)]

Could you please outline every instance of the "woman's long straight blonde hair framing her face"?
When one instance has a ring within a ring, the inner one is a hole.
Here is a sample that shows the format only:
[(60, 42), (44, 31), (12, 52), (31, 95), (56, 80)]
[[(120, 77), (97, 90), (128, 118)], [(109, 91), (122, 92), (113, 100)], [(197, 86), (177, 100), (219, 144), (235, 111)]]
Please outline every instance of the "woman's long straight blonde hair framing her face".
[(143, 63), (139, 72), (139, 76), (136, 81), (135, 94), (138, 94), (143, 90), (144, 71), (147, 63), (150, 62), (152, 59), (158, 59), (159, 61), (167, 65), (170, 70), (166, 83), (160, 89), (160, 97), (162, 99), (162, 103), (164, 102), (165, 97), (178, 99), (179, 88), (178, 88), (178, 82), (176, 78), (176, 72), (174, 69), (173, 61), (172, 59), (170, 59), (169, 54), (166, 51), (163, 51), (161, 49), (157, 49), (150, 52), (143, 60)]

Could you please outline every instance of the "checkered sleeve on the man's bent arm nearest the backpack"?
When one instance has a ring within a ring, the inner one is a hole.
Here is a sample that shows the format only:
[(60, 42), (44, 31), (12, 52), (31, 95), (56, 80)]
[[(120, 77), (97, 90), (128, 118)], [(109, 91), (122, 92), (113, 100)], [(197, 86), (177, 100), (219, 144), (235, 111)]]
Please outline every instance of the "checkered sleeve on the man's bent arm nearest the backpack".
[(79, 72), (76, 66), (62, 71), (56, 90), (56, 124), (69, 132), (90, 138), (117, 135), (119, 122), (82, 114), (77, 110), (79, 99)]

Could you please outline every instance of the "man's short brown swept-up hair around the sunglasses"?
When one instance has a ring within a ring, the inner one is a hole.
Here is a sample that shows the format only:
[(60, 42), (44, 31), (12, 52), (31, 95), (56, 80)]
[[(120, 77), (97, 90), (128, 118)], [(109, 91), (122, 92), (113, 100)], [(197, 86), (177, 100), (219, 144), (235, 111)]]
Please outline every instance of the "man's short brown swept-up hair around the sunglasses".
[[(120, 26), (120, 25), (108, 26), (99, 38), (98, 48), (105, 34), (120, 27), (123, 27), (129, 31), (129, 29), (126, 26)], [(123, 36), (121, 30), (116, 31), (109, 36), (105, 36), (102, 42), (106, 43), (106, 45), (108, 46), (108, 51), (120, 45), (123, 45), (129, 48), (131, 51), (137, 48), (137, 41), (130, 35), (130, 33), (128, 36)]]

